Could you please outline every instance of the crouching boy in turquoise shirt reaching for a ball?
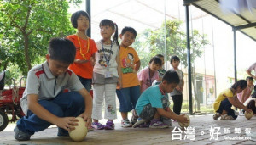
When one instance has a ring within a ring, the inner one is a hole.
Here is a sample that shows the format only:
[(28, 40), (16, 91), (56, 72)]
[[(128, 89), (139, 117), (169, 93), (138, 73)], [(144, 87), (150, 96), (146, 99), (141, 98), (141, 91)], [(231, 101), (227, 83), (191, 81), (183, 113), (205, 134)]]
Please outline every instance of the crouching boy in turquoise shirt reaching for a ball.
[(142, 120), (137, 121), (133, 127), (142, 125), (143, 123), (151, 120), (149, 128), (167, 128), (162, 120), (162, 117), (177, 120), (179, 122), (188, 122), (187, 118), (183, 115), (177, 115), (169, 108), (169, 100), (167, 93), (179, 83), (179, 77), (174, 70), (166, 71), (160, 85), (151, 86), (143, 92), (137, 101), (136, 112)]

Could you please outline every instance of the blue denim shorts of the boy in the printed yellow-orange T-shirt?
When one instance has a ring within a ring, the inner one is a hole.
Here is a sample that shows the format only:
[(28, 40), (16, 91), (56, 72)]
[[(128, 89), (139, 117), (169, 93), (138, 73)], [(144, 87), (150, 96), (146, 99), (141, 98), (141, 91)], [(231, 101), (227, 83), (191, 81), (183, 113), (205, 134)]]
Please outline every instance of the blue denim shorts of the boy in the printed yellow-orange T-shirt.
[(119, 111), (130, 112), (135, 109), (137, 99), (140, 97), (140, 86), (132, 86), (116, 90), (116, 94), (119, 98)]

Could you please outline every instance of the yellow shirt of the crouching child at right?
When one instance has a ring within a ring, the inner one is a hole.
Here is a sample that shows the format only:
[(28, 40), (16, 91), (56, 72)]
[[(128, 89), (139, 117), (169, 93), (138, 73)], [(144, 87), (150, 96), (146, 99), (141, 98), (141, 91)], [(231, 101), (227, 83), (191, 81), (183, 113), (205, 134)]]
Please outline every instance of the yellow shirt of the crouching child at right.
[(230, 89), (226, 89), (223, 92), (220, 92), (218, 98), (216, 98), (215, 102), (213, 103), (214, 111), (216, 112), (219, 109), (219, 105), (224, 99), (234, 98), (234, 96), (236, 96), (236, 92), (232, 92)]

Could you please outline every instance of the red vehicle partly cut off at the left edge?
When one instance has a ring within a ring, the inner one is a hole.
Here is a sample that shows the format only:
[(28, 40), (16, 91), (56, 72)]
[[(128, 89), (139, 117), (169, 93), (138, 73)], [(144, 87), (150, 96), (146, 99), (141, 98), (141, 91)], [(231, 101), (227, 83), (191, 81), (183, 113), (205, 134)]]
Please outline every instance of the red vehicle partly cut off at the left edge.
[[(25, 77), (20, 79), (20, 86), (15, 86), (15, 80), (9, 79), (12, 81), (12, 86), (5, 87), (4, 81), (5, 72), (0, 73), (0, 131), (3, 131), (9, 122), (14, 122), (19, 120), (25, 114), (20, 108), (20, 98), (25, 90), (25, 86), (21, 86), (21, 81)], [(12, 118), (9, 120), (8, 114), (11, 114)]]

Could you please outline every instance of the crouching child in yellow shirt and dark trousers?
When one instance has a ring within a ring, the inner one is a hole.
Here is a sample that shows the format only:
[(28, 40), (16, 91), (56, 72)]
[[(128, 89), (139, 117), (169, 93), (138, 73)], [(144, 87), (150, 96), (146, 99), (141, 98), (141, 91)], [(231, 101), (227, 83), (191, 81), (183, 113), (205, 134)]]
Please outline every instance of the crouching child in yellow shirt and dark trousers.
[(236, 120), (237, 115), (235, 110), (231, 109), (232, 105), (239, 109), (244, 109), (245, 111), (251, 112), (251, 109), (247, 109), (237, 98), (236, 93), (242, 92), (247, 87), (247, 81), (240, 80), (236, 81), (235, 84), (221, 92), (218, 98), (213, 103), (213, 109), (216, 114), (213, 115), (214, 120)]

